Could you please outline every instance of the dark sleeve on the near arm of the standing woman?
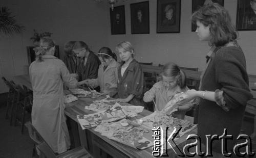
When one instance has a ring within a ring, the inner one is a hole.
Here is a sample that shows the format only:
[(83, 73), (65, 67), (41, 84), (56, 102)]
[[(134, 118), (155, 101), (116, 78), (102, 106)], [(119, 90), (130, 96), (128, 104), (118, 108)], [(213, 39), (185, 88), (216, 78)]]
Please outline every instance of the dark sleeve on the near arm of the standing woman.
[(216, 53), (216, 81), (222, 86), (224, 101), (231, 109), (245, 106), (252, 98), (248, 87), (248, 74), (242, 50), (225, 47)]

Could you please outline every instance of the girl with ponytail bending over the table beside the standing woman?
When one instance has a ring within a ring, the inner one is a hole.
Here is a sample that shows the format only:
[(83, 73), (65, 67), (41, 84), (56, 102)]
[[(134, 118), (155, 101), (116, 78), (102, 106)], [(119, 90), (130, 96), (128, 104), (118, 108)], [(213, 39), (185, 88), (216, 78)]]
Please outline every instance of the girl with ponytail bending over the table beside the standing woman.
[[(163, 66), (160, 74), (160, 82), (156, 83), (149, 91), (144, 94), (145, 102), (153, 101), (156, 98), (155, 111), (162, 111), (174, 95), (189, 90), (186, 86), (186, 75), (175, 63), (167, 63)], [(177, 111), (172, 113), (173, 117), (184, 119), (186, 111), (193, 108), (193, 103), (178, 106)]]

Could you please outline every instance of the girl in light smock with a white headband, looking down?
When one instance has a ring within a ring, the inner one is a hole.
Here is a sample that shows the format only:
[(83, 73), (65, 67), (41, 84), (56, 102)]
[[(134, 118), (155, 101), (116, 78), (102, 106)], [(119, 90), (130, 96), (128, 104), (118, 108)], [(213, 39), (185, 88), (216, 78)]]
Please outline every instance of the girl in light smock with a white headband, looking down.
[(117, 83), (118, 68), (120, 66), (117, 63), (117, 56), (110, 48), (102, 47), (98, 52), (98, 58), (101, 62), (98, 70), (98, 78), (88, 79), (82, 82), (94, 88), (100, 86), (101, 95), (113, 97), (117, 93), (117, 88), (110, 89), (106, 83)]

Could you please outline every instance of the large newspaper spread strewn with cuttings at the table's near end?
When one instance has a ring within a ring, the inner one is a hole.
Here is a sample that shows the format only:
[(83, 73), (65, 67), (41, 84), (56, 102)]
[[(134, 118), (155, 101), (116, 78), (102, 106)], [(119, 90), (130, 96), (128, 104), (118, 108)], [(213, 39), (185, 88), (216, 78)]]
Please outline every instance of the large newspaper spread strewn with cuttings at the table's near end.
[[(176, 101), (169, 102), (168, 109), (175, 106), (178, 101), (184, 98), (185, 96), (182, 94), (178, 99), (176, 99)], [(131, 110), (131, 112), (136, 110), (137, 109), (134, 108)], [(166, 115), (166, 111), (156, 111), (151, 115), (143, 117), (137, 121), (122, 119), (118, 122), (102, 123), (101, 125), (98, 125), (94, 130), (99, 132), (102, 136), (127, 146), (131, 146), (136, 149), (145, 149), (154, 145), (155, 140), (152, 136), (155, 134), (152, 129), (162, 127), (163, 131), (165, 131), (166, 127), (168, 127), (167, 134), (170, 135), (175, 128), (177, 133), (178, 129), (182, 127), (174, 139), (177, 141), (180, 137), (182, 137), (188, 131), (194, 129), (196, 126), (197, 125), (191, 124), (187, 120), (181, 120), (178, 118), (173, 118), (172, 116), (168, 116)], [(173, 136), (175, 136), (176, 133)], [(166, 133), (163, 133), (162, 137), (165, 138)], [(164, 148), (165, 143), (166, 142), (164, 141)], [(169, 148), (170, 146), (168, 145), (167, 149)]]

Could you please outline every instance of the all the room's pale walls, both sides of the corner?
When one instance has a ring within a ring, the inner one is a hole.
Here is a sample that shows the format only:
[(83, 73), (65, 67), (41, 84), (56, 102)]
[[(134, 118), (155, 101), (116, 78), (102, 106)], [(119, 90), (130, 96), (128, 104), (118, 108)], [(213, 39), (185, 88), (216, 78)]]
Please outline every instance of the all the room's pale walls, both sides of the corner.
[[(192, 1), (181, 1), (180, 33), (157, 34), (157, 0), (150, 0), (150, 34), (131, 34), (130, 4), (143, 2), (129, 0), (115, 6), (125, 5), (125, 35), (111, 35), (110, 5), (103, 0), (0, 0), (0, 6), (7, 6), (15, 18), (26, 27), (23, 37), (7, 37), (0, 34), (0, 77), (7, 80), (13, 76), (26, 74), (28, 65), (26, 46), (33, 45), (29, 38), (33, 29), (38, 32), (52, 32), (63, 57), (63, 45), (70, 40), (86, 42), (94, 52), (102, 46), (115, 46), (121, 41), (130, 41), (135, 47), (136, 60), (153, 62), (153, 65), (175, 62), (180, 66), (198, 67), (202, 70), (205, 55), (209, 49), (206, 42), (200, 42), (197, 34), (191, 32)], [(229, 11), (233, 23), (236, 21), (237, 1), (225, 0), (224, 7)], [(244, 50), (249, 74), (256, 74), (256, 31), (240, 31), (239, 43)], [(120, 60), (120, 59), (119, 59)], [(0, 93), (7, 92), (2, 80)]]

